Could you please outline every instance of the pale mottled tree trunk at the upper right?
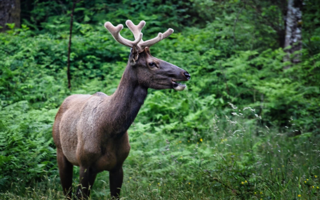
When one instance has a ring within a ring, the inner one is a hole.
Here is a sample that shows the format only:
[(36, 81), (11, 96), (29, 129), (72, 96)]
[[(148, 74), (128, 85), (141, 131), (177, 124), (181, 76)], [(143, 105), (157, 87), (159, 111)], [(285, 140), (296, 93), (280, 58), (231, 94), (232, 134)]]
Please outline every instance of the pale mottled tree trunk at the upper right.
[[(302, 25), (302, 0), (288, 0), (288, 10), (286, 16), (286, 33), (284, 48), (285, 52), (288, 53), (284, 57), (284, 61), (291, 61), (292, 63), (299, 63), (301, 61), (302, 48), (302, 36), (301, 36), (301, 25)], [(289, 67), (289, 66), (288, 66)]]

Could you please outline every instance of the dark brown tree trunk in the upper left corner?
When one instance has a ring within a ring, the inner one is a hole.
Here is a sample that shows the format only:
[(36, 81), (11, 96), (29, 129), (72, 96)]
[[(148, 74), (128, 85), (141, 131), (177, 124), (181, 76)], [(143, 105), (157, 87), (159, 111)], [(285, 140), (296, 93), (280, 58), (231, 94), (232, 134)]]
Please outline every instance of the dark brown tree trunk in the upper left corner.
[(8, 30), (6, 23), (20, 27), (20, 0), (0, 0), (0, 31)]

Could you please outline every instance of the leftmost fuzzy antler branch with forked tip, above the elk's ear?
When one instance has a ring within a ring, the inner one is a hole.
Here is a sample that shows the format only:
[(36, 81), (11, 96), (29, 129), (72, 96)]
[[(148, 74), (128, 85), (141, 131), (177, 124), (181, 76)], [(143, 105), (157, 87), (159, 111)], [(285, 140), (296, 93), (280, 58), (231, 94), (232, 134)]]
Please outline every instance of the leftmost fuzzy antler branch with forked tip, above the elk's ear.
[(106, 23), (104, 23), (104, 27), (108, 29), (108, 31), (111, 33), (113, 38), (115, 38), (115, 40), (118, 43), (123, 44), (128, 47), (133, 47), (133, 44), (138, 44), (140, 42), (140, 40), (142, 39), (142, 33), (137, 35), (137, 38), (135, 38), (134, 41), (131, 41), (131, 40), (128, 40), (128, 39), (125, 39), (124, 37), (122, 37), (120, 35), (120, 31), (123, 29), (122, 24), (118, 24), (117, 26), (113, 26), (111, 22), (107, 21)]

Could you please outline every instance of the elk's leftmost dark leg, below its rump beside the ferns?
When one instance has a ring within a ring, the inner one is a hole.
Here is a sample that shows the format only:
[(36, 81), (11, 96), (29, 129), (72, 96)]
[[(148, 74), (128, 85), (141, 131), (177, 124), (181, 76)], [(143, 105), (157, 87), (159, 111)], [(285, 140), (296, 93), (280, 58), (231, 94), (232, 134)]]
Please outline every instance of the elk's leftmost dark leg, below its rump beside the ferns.
[(60, 148), (57, 148), (57, 161), (63, 194), (66, 195), (68, 199), (71, 199), (73, 165), (67, 160)]

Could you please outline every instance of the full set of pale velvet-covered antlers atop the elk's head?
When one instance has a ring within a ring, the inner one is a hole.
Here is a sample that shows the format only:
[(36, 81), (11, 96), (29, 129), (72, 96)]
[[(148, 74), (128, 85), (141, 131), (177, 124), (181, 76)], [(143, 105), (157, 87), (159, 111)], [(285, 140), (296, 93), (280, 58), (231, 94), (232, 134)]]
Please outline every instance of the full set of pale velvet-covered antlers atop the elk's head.
[(117, 42), (119, 42), (120, 44), (124, 44), (126, 46), (129, 46), (129, 47), (132, 47), (133, 44), (135, 44), (135, 45), (137, 45), (139, 52), (143, 52), (145, 47), (150, 47), (150, 46), (160, 42), (164, 38), (170, 36), (173, 33), (173, 29), (168, 28), (168, 30), (166, 30), (164, 33), (158, 33), (158, 36), (156, 36), (150, 40), (143, 41), (141, 30), (146, 25), (146, 22), (144, 20), (140, 21), (140, 23), (138, 25), (134, 25), (131, 20), (127, 20), (125, 22), (125, 24), (133, 33), (133, 36), (135, 39), (134, 41), (127, 40), (120, 35), (120, 31), (123, 29), (122, 24), (119, 24), (115, 27), (110, 22), (107, 21), (104, 24), (104, 26), (108, 29), (108, 31), (111, 33), (111, 35), (113, 36), (113, 38), (115, 38), (115, 40)]

